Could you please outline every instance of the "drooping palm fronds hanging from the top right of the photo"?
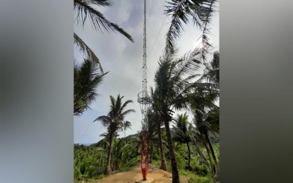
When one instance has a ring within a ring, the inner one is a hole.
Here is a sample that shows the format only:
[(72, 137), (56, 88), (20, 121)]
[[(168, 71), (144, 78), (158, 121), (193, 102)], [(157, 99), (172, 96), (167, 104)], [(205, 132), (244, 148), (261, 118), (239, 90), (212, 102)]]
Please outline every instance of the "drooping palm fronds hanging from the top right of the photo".
[(168, 2), (165, 13), (172, 15), (171, 25), (167, 32), (165, 51), (172, 51), (176, 39), (184, 31), (183, 23), (189, 23), (193, 20), (193, 24), (203, 31), (201, 54), (205, 60), (205, 54), (208, 53), (212, 46), (209, 42), (208, 34), (210, 30), (208, 25), (211, 22), (213, 13), (215, 12), (215, 2), (217, 0), (172, 0)]

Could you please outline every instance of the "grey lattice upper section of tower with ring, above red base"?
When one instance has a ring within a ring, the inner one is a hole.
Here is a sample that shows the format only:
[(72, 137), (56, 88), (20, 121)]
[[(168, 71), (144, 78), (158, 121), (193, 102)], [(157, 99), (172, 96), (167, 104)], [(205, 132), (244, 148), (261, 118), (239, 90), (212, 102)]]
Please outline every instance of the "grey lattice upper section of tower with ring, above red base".
[[(145, 2), (145, 1), (144, 1)], [(143, 11), (143, 91), (138, 93), (138, 103), (140, 103), (140, 111), (143, 117), (143, 130), (148, 130), (146, 127), (147, 122), (147, 109), (151, 103), (150, 94), (147, 90), (147, 56), (146, 56), (146, 17), (145, 17), (145, 4)]]

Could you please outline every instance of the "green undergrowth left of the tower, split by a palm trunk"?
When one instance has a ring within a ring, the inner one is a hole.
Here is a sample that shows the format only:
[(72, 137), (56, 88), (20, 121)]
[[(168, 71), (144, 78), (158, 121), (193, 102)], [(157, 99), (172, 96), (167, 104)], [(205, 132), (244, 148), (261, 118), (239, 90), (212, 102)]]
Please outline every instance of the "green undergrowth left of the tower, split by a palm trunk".
[[(140, 162), (138, 135), (113, 139), (110, 171), (127, 171)], [(74, 179), (101, 179), (107, 165), (109, 142), (102, 139), (90, 146), (74, 145)]]

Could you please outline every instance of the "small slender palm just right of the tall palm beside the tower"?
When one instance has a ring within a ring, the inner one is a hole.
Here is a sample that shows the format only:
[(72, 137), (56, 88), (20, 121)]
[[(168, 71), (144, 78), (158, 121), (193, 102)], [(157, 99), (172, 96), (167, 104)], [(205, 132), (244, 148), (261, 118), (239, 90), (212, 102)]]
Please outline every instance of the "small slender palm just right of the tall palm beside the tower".
[(173, 125), (172, 129), (174, 130), (174, 140), (183, 142), (187, 146), (187, 149), (189, 151), (189, 160), (187, 162), (186, 168), (191, 169), (191, 151), (189, 147), (189, 142), (191, 141), (190, 132), (192, 129), (192, 125), (191, 123), (189, 123), (188, 118), (189, 116), (186, 113), (178, 114), (177, 118), (174, 119), (175, 125)]

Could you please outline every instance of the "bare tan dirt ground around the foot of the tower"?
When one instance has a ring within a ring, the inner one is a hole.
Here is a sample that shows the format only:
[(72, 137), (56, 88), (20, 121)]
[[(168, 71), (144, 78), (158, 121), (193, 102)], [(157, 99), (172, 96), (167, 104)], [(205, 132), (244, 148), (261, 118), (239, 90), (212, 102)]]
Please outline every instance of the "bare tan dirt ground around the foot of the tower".
[[(119, 172), (103, 179), (96, 180), (95, 182), (107, 182), (107, 183), (134, 183), (138, 179), (142, 179), (142, 173), (140, 166), (133, 168), (128, 172)], [(169, 183), (172, 182), (172, 174), (164, 170), (157, 170), (157, 168), (151, 168), (148, 170), (147, 178), (153, 178), (152, 183)], [(180, 179), (181, 183), (188, 183), (186, 179)]]

